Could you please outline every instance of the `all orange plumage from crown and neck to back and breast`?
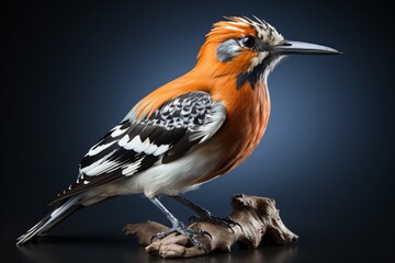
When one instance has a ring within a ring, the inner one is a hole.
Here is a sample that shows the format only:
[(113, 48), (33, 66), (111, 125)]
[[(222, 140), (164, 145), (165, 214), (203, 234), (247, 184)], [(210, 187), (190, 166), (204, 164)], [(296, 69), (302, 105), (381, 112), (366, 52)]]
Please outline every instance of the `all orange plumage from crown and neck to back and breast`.
[(258, 146), (268, 125), (270, 96), (266, 83), (260, 81), (252, 88), (251, 83), (245, 82), (240, 88), (236, 87), (238, 76), (248, 70), (250, 60), (257, 53), (246, 49), (227, 64), (216, 58), (216, 49), (224, 41), (257, 34), (257, 31), (240, 18), (215, 23), (199, 52), (195, 67), (179, 79), (155, 90), (136, 107), (138, 117), (147, 117), (166, 102), (191, 91), (207, 92), (214, 101), (224, 103), (225, 123), (217, 134), (202, 146), (207, 158), (213, 150), (222, 151), (222, 157), (215, 170), (200, 179), (199, 183), (225, 174), (240, 164)]

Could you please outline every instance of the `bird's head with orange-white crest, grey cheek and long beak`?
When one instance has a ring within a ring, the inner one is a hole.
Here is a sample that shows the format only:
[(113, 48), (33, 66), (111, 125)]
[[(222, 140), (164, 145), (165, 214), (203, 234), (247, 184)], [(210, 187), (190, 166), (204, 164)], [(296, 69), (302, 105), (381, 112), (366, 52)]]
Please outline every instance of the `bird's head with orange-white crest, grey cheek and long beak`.
[(236, 76), (237, 85), (267, 79), (282, 57), (290, 54), (339, 54), (338, 50), (291, 42), (266, 21), (226, 18), (214, 24), (198, 55), (196, 67), (214, 77)]

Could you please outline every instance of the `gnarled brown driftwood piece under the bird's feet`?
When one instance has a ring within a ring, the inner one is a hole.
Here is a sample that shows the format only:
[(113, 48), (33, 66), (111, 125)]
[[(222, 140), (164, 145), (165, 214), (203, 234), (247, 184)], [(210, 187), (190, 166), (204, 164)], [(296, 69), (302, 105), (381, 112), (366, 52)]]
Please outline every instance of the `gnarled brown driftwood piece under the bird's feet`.
[[(196, 237), (207, 252), (222, 250), (229, 252), (234, 243), (242, 248), (256, 249), (262, 241), (273, 244), (285, 244), (297, 240), (280, 218), (274, 199), (238, 194), (232, 198), (233, 213), (230, 218), (240, 226), (234, 226), (233, 231), (226, 227), (208, 221), (194, 222), (190, 227), (199, 228), (211, 235)], [(189, 242), (185, 236), (172, 233), (158, 240), (153, 238), (157, 232), (168, 230), (168, 227), (155, 221), (129, 224), (124, 228), (125, 235), (137, 236), (139, 243), (147, 245), (146, 251), (161, 258), (191, 258), (205, 252)]]

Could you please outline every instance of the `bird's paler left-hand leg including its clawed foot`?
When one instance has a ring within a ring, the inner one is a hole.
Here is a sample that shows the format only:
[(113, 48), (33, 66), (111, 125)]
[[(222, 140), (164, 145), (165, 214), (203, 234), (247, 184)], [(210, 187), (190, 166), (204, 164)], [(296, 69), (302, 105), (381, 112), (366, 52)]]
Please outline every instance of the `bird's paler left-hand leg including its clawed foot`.
[(201, 242), (199, 242), (198, 239), (195, 239), (194, 235), (196, 236), (204, 236), (204, 231), (202, 231), (201, 229), (194, 229), (194, 228), (188, 228), (185, 227), (185, 225), (183, 225), (182, 221), (180, 221), (179, 219), (177, 219), (163, 205), (162, 203), (159, 202), (159, 199), (157, 197), (154, 197), (150, 199), (150, 202), (154, 203), (154, 205), (156, 205), (165, 215), (166, 217), (170, 220), (172, 228), (163, 231), (163, 232), (158, 232), (157, 235), (155, 235), (156, 238), (162, 239), (166, 238), (167, 236), (169, 236), (170, 233), (173, 232), (179, 232), (181, 235), (187, 236), (187, 238), (193, 243), (193, 245), (203, 249), (204, 251), (206, 251), (206, 249), (202, 245)]

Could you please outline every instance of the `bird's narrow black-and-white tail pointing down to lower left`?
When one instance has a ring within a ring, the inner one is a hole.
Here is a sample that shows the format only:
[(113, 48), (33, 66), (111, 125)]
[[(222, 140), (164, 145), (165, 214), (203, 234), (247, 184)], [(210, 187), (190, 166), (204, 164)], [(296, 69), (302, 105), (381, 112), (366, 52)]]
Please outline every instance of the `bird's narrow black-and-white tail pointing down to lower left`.
[(34, 227), (29, 229), (26, 233), (19, 237), (16, 244), (23, 244), (29, 240), (33, 239), (34, 237), (43, 235), (44, 232), (52, 229), (55, 225), (60, 222), (63, 219), (65, 219), (67, 216), (81, 208), (81, 205), (79, 204), (80, 199), (81, 195), (68, 198), (66, 202), (64, 202), (61, 205), (50, 211), (46, 217), (44, 217), (40, 222), (37, 222)]

